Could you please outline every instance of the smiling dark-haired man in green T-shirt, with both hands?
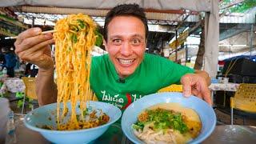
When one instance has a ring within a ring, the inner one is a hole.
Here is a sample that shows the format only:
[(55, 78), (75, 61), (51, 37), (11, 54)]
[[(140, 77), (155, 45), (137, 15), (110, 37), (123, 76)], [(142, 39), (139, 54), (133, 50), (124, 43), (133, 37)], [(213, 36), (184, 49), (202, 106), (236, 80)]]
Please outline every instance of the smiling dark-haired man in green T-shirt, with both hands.
[[(135, 4), (116, 6), (106, 15), (104, 46), (109, 54), (93, 58), (90, 73), (90, 86), (98, 100), (124, 110), (146, 94), (181, 82), (185, 96), (195, 94), (211, 104), (207, 87), (210, 78), (206, 72), (145, 54), (146, 22), (142, 8)], [(42, 35), (41, 32), (34, 28), (19, 34), (15, 52), (22, 60), (39, 67), (38, 102), (45, 105), (56, 102), (57, 89), (49, 48), (54, 39), (51, 34)]]

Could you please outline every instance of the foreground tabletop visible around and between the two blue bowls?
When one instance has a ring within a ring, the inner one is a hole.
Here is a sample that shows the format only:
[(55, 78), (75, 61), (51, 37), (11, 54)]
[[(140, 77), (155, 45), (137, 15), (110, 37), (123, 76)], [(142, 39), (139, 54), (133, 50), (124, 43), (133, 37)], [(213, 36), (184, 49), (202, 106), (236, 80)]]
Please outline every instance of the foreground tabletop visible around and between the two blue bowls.
[[(17, 144), (48, 144), (50, 143), (46, 138), (36, 131), (26, 128), (23, 123), (25, 115), (19, 115), (15, 118), (15, 136)], [(90, 142), (90, 144), (130, 144), (131, 142), (126, 135), (122, 132), (122, 126), (120, 122), (115, 122), (110, 126), (108, 130), (102, 136)], [(203, 144), (216, 144), (216, 143), (256, 143), (256, 126), (240, 126), (240, 125), (219, 125), (215, 126), (212, 134), (209, 135), (203, 142)]]

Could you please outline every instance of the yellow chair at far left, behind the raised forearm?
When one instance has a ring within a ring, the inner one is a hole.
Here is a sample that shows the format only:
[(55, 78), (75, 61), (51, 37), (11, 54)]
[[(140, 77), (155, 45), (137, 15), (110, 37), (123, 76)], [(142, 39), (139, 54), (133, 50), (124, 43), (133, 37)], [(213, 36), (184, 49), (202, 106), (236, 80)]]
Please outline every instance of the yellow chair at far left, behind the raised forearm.
[[(24, 106), (26, 102), (26, 98), (37, 100), (37, 94), (35, 90), (35, 78), (34, 77), (22, 77), (22, 81), (24, 82), (26, 89), (25, 95), (23, 97), (23, 104), (22, 104), (22, 114), (24, 114)], [(31, 110), (34, 110), (34, 106), (32, 105)]]

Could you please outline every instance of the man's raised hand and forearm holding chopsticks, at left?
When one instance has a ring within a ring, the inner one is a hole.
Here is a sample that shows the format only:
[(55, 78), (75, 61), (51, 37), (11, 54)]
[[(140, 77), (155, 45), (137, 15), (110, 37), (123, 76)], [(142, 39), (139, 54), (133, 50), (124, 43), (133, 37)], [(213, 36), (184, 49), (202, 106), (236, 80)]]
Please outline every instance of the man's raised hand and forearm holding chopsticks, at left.
[(56, 102), (57, 89), (54, 84), (54, 60), (51, 58), (52, 34), (42, 34), (40, 28), (31, 28), (18, 34), (14, 42), (15, 53), (25, 62), (39, 67), (36, 92), (40, 106)]

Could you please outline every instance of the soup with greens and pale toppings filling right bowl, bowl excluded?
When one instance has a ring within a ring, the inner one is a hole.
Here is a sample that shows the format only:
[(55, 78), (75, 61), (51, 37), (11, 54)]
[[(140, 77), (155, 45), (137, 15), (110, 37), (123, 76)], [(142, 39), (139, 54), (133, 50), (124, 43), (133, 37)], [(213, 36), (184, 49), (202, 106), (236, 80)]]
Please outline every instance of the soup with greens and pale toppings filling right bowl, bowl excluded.
[(200, 134), (202, 123), (193, 109), (165, 102), (142, 110), (132, 129), (146, 143), (186, 143)]

